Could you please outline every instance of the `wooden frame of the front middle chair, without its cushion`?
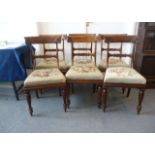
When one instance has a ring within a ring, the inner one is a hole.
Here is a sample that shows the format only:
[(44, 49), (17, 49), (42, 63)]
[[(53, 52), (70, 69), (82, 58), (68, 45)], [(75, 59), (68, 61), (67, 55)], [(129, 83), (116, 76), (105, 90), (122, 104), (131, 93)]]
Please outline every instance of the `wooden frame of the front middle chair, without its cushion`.
[[(96, 34), (69, 34), (68, 35), (68, 42), (71, 44), (71, 61), (72, 61), (72, 65), (74, 65), (74, 57), (75, 56), (90, 56), (91, 60), (94, 57), (94, 66), (96, 67), (96, 49), (97, 49), (97, 36)], [(86, 43), (86, 44), (91, 44), (90, 48), (86, 47), (86, 48), (75, 48), (74, 44), (77, 43)], [(94, 51), (93, 51), (93, 44), (94, 44)], [(75, 52), (75, 51), (83, 51), (81, 52)], [(85, 52), (86, 51), (86, 52)], [(90, 52), (88, 52), (90, 51)], [(96, 85), (98, 86), (98, 95), (99, 95), (99, 103), (98, 106), (101, 104), (101, 94), (102, 94), (102, 84), (103, 84), (103, 80), (70, 80), (70, 79), (66, 79), (67, 80), (67, 85), (68, 85), (68, 89), (70, 90), (70, 86), (72, 86), (73, 89), (73, 85), (74, 84), (93, 84), (93, 88), (94, 86), (96, 87)], [(95, 88), (94, 88), (95, 89)], [(94, 92), (94, 90), (93, 90)]]

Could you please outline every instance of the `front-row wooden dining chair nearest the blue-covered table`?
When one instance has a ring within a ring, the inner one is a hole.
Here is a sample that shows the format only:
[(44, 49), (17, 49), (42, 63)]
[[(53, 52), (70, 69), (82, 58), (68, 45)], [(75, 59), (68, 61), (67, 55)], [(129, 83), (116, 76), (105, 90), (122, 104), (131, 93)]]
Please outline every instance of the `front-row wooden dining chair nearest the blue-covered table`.
[[(28, 77), (24, 81), (24, 94), (27, 99), (30, 115), (33, 115), (33, 108), (31, 105), (31, 91), (50, 88), (60, 88), (63, 90), (63, 107), (64, 111), (66, 112), (67, 106), (69, 104), (68, 90), (66, 86), (66, 78), (63, 75), (63, 73), (59, 70), (58, 61), (58, 44), (61, 42), (61, 36), (29, 36), (25, 37), (25, 42), (30, 48), (33, 64), (33, 71), (28, 75)], [(55, 55), (45, 55), (42, 52), (43, 45), (48, 43), (55, 44)], [(53, 57), (57, 60), (57, 67), (36, 69), (37, 64), (42, 59), (48, 59)]]

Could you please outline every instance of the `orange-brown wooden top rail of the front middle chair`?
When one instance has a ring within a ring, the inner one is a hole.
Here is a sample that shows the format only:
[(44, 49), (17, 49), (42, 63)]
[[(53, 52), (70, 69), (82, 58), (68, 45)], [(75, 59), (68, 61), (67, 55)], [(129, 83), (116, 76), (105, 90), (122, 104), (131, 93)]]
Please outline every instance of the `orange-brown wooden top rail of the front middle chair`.
[(93, 43), (96, 42), (96, 35), (70, 35), (68, 36), (68, 42), (71, 43)]

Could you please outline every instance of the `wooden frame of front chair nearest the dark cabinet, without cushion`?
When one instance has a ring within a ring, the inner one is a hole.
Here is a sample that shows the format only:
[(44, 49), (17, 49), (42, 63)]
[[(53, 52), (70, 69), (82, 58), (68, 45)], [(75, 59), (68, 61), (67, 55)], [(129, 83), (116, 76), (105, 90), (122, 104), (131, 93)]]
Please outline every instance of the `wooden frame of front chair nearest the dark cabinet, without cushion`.
[[(131, 54), (112, 54), (109, 52), (108, 50), (108, 55), (107, 55), (107, 62), (109, 60), (109, 57), (130, 57), (132, 62), (134, 63), (134, 54), (135, 54), (135, 44), (137, 42), (138, 38), (137, 36), (134, 35), (129, 35), (129, 36), (121, 36), (121, 37), (107, 37), (105, 42), (110, 44), (110, 43), (131, 43), (133, 44), (133, 52)], [(106, 73), (105, 73), (106, 74)], [(144, 97), (144, 91), (145, 91), (145, 85), (144, 84), (123, 84), (123, 83), (103, 83), (103, 90), (102, 90), (102, 108), (103, 111), (105, 112), (106, 107), (107, 107), (107, 89), (110, 87), (121, 87), (121, 88), (129, 88), (129, 90), (131, 88), (137, 88), (139, 89), (139, 97), (138, 97), (138, 104), (137, 104), (137, 114), (140, 113), (141, 109), (142, 109), (142, 101), (143, 101), (143, 97)]]

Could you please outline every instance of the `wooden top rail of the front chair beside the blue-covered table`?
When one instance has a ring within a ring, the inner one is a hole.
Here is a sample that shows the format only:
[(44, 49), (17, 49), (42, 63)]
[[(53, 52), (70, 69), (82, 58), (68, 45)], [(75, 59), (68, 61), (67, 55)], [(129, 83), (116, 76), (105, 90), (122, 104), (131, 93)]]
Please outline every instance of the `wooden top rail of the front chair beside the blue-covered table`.
[(27, 44), (61, 43), (61, 35), (25, 37)]

